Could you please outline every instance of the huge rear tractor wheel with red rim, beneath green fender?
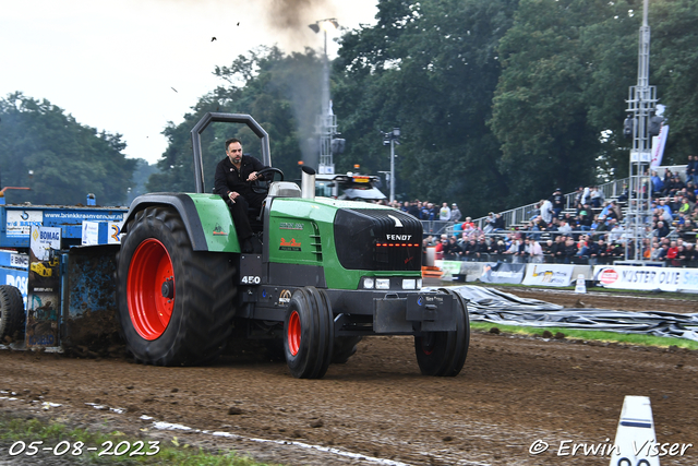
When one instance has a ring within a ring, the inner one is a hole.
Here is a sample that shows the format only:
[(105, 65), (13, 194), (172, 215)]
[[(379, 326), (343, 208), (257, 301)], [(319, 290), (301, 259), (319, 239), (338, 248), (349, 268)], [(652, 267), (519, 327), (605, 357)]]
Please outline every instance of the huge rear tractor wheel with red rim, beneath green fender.
[(230, 254), (193, 251), (177, 211), (151, 206), (127, 225), (117, 261), (118, 318), (137, 362), (197, 366), (222, 353), (237, 294)]

